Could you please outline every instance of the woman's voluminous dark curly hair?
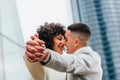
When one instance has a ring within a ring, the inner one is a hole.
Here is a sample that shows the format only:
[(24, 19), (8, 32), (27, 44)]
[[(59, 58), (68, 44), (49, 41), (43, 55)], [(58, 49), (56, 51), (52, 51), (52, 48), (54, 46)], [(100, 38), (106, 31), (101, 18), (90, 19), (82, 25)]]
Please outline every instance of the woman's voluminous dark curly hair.
[(65, 27), (60, 23), (45, 23), (37, 29), (37, 33), (39, 34), (39, 39), (45, 42), (46, 48), (53, 49), (54, 45), (54, 37), (56, 35), (65, 35)]

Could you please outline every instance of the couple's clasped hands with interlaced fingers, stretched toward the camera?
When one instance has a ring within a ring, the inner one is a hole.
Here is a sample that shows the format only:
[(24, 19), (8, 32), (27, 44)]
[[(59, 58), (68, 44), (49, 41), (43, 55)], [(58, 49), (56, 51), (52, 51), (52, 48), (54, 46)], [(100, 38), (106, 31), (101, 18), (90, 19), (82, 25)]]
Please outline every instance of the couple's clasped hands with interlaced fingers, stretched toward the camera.
[(25, 55), (28, 61), (37, 62), (46, 59), (45, 45), (35, 35), (31, 36), (32, 40), (26, 42)]

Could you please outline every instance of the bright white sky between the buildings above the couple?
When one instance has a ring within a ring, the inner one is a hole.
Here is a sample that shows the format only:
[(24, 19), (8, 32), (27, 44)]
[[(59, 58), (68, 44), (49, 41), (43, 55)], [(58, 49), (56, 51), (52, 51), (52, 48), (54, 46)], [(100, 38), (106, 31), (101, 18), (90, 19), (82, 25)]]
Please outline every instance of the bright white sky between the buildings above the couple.
[(73, 22), (70, 0), (16, 0), (16, 6), (24, 41), (29, 40), (45, 22), (65, 26)]

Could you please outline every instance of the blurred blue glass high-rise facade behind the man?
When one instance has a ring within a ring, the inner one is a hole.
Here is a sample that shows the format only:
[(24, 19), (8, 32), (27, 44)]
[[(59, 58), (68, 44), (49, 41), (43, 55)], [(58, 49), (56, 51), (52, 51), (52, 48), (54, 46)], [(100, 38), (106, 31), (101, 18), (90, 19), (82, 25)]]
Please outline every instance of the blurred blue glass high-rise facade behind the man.
[(90, 26), (90, 45), (102, 57), (103, 80), (120, 80), (120, 1), (71, 0), (74, 22)]

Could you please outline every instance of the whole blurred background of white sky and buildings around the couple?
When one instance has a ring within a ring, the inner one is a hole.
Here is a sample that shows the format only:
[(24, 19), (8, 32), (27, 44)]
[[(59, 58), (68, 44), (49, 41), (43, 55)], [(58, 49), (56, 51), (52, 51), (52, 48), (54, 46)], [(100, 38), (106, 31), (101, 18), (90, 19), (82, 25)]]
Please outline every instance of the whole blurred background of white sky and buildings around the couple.
[(120, 80), (120, 0), (0, 0), (0, 80), (30, 80), (25, 42), (44, 22), (84, 22), (102, 58), (103, 79)]

